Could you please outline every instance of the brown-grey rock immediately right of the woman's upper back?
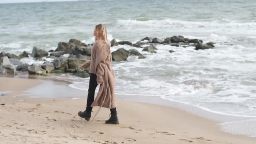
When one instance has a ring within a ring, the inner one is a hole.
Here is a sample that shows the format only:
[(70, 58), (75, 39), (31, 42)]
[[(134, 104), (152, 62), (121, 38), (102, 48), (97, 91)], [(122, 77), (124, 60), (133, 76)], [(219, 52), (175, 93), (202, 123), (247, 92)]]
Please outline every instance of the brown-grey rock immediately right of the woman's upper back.
[(115, 52), (112, 52), (112, 60), (113, 61), (126, 61), (128, 56), (131, 56), (131, 52), (128, 50), (121, 48), (116, 50)]

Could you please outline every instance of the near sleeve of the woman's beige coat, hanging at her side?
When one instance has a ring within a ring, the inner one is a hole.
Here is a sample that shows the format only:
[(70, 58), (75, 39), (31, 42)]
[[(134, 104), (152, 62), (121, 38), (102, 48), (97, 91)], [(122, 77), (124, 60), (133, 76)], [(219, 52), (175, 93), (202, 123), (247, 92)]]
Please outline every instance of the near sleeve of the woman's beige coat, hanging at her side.
[(96, 43), (96, 75), (97, 75), (97, 83), (102, 84), (103, 82), (103, 75), (104, 75), (104, 66), (105, 66), (105, 59), (108, 55), (107, 51), (103, 49), (103, 46), (99, 43)]

